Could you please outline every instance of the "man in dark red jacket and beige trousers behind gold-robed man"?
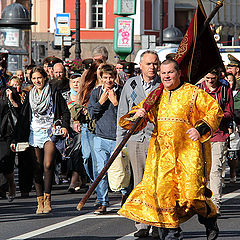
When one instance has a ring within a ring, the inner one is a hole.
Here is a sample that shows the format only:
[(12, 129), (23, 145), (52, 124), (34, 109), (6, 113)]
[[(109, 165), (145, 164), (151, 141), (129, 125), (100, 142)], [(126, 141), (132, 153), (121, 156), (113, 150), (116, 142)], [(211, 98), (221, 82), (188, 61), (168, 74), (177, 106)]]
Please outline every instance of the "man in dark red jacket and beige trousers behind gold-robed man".
[(223, 109), (224, 116), (217, 131), (211, 137), (212, 146), (212, 167), (210, 172), (210, 189), (213, 192), (212, 201), (220, 215), (222, 201), (222, 176), (226, 164), (227, 140), (229, 137), (229, 124), (233, 121), (233, 95), (231, 88), (220, 82), (220, 72), (213, 69), (201, 83), (210, 96), (216, 99)]

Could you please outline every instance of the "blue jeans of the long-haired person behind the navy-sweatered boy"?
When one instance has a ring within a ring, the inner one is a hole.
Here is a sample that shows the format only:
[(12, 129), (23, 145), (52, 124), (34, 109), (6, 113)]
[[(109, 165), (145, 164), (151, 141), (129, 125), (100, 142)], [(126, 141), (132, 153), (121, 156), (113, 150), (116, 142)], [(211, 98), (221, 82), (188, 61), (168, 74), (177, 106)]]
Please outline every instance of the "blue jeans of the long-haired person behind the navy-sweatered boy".
[[(94, 171), (94, 169), (97, 169), (93, 143), (95, 137), (96, 135), (91, 133), (87, 128), (87, 124), (84, 123), (81, 127), (82, 158), (86, 173), (92, 182), (97, 177), (97, 172)], [(89, 161), (92, 161), (93, 171), (92, 169), (89, 169)]]

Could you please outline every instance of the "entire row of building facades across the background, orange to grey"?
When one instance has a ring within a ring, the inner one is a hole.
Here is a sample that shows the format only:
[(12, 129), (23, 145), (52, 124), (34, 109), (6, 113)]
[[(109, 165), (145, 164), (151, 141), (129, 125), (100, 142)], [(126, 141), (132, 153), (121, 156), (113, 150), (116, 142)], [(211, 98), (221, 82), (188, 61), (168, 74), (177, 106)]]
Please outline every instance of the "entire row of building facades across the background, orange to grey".
[[(159, 36), (160, 10), (163, 1), (164, 26), (163, 29), (171, 26), (179, 28), (185, 33), (196, 9), (197, 0), (137, 0), (136, 15), (134, 19), (134, 57), (141, 49), (142, 35)], [(31, 7), (31, 20), (37, 22), (32, 27), (32, 41), (36, 50), (35, 57), (41, 58), (44, 55), (55, 55), (61, 57), (61, 51), (54, 46), (54, 32), (56, 29), (55, 17), (57, 13), (70, 13), (71, 30), (76, 31), (76, 0), (1, 0), (0, 10), (13, 2), (23, 4), (27, 9)], [(209, 0), (202, 0), (207, 15), (210, 14), (215, 3)], [(107, 47), (110, 61), (114, 62), (113, 39), (114, 39), (114, 0), (81, 0), (80, 1), (80, 39), (81, 57), (91, 57), (92, 49), (97, 45)], [(220, 36), (219, 42), (225, 45), (239, 44), (240, 35), (240, 1), (225, 0), (224, 6), (213, 19), (217, 33)], [(73, 35), (73, 39), (75, 35)], [(74, 40), (73, 40), (74, 43)], [(35, 51), (34, 50), (34, 51)], [(75, 57), (75, 45), (70, 49), (70, 58)]]

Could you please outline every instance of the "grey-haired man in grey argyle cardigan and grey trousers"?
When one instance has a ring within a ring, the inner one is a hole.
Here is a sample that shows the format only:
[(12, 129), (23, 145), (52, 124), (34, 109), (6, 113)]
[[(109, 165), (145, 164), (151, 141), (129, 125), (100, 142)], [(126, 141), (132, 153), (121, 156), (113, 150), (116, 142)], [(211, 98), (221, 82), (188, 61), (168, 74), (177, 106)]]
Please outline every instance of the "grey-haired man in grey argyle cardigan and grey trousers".
[[(155, 51), (147, 50), (140, 56), (140, 69), (142, 74), (130, 78), (125, 83), (120, 101), (118, 104), (118, 121), (128, 113), (132, 107), (143, 101), (148, 94), (160, 85), (160, 78), (157, 75), (157, 70), (160, 61)], [(153, 124), (148, 122), (148, 125), (143, 130), (136, 132), (131, 136), (127, 143), (128, 156), (131, 162), (134, 178), (134, 187), (142, 180), (148, 145), (153, 131)], [(126, 130), (117, 126), (117, 143), (122, 141), (126, 134)], [(150, 227), (142, 223), (136, 223), (137, 232), (135, 237), (147, 237)], [(157, 229), (154, 230), (154, 236), (157, 235)], [(156, 236), (156, 237), (157, 237)]]

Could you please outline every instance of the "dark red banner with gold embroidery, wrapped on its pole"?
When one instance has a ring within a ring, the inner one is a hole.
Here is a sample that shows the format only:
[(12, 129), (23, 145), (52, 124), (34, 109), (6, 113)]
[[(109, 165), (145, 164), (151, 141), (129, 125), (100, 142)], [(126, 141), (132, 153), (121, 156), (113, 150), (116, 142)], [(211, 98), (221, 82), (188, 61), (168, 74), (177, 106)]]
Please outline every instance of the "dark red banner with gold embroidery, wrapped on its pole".
[[(205, 21), (206, 14), (201, 1), (198, 0), (196, 12), (175, 55), (175, 60), (182, 72), (183, 81), (192, 84), (197, 83), (213, 68), (224, 69), (213, 33), (209, 24), (204, 24)], [(161, 83), (158, 88), (149, 94), (143, 104), (147, 111), (154, 106), (162, 90), (163, 84)]]

